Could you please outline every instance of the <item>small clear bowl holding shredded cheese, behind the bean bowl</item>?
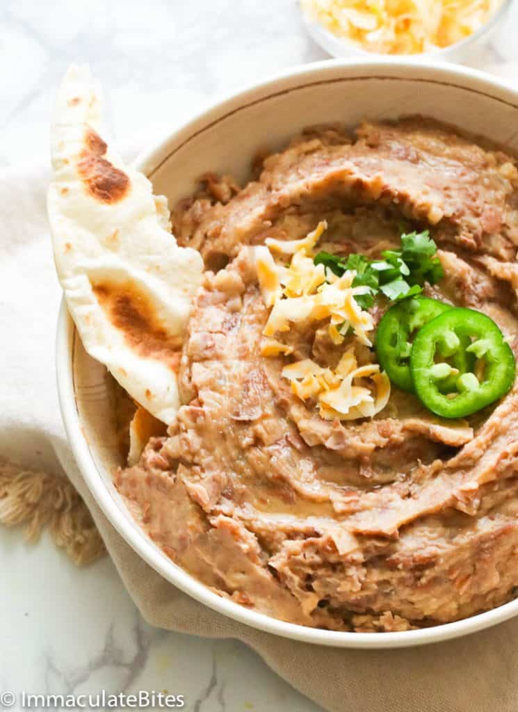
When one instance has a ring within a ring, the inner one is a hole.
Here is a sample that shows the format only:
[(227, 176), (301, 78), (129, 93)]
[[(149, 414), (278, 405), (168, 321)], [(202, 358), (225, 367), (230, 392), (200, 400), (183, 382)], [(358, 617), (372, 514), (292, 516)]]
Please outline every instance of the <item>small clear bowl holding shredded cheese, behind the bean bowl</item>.
[[(407, 56), (411, 57), (414, 62), (428, 60), (459, 63), (476, 62), (480, 57), (480, 48), (483, 44), (487, 44), (495, 38), (513, 3), (514, 0), (503, 0), (497, 11), (490, 16), (487, 22), (485, 22), (469, 37), (466, 37), (460, 42), (455, 42), (455, 44), (450, 45), (449, 47), (438, 48), (433, 52), (423, 52)], [(302, 12), (302, 19), (308, 33), (310, 33), (314, 41), (331, 56), (354, 57), (361, 60), (368, 57), (386, 57), (386, 55), (369, 52), (368, 50), (357, 46), (353, 42), (349, 42), (345, 37), (334, 35), (319, 22), (314, 21), (310, 16), (308, 16), (302, 8), (300, 11)]]

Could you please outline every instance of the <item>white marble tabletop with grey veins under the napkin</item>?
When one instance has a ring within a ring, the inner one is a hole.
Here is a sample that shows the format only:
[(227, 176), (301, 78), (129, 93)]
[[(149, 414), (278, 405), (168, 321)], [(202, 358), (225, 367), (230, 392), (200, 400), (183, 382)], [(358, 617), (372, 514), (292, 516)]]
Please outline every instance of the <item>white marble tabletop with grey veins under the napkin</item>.
[[(480, 66), (518, 58), (517, 27), (518, 8)], [(0, 167), (46, 154), (71, 61), (102, 80), (115, 135), (141, 144), (236, 85), (321, 58), (295, 0), (0, 0)], [(47, 538), (31, 547), (11, 531), (0, 557), (0, 690), (166, 689), (195, 712), (317, 710), (241, 644), (149, 627), (110, 560), (75, 570)]]

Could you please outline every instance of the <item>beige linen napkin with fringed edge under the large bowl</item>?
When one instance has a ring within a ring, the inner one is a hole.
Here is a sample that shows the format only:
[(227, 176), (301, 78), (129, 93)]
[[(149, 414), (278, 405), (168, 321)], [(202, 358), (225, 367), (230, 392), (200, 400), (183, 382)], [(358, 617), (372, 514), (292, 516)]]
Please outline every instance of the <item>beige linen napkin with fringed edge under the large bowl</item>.
[[(54, 377), (60, 289), (46, 223), (47, 182), (43, 167), (0, 172), (0, 456), (18, 464), (0, 462), (0, 521), (25, 520), (32, 534), (50, 523), (56, 542), (78, 562), (100, 553), (98, 530), (149, 623), (240, 639), (328, 710), (516, 712), (518, 620), (418, 649), (311, 646), (221, 617), (176, 590), (129, 548), (90, 496), (60, 423)], [(63, 471), (84, 503), (60, 477)]]

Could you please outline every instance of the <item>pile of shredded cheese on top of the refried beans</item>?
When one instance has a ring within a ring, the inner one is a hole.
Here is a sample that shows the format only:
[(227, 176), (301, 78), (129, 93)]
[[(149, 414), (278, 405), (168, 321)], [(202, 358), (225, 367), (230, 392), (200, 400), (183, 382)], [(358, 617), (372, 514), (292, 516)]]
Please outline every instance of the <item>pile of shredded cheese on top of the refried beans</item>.
[[(335, 345), (345, 341), (349, 330), (355, 342), (371, 345), (368, 333), (374, 328), (372, 316), (354, 299), (368, 288), (353, 286), (354, 271), (338, 277), (313, 261), (312, 250), (326, 227), (322, 221), (304, 239), (267, 239), (266, 246), (253, 248), (260, 290), (265, 305), (271, 308), (263, 329), (268, 337), (261, 345), (263, 356), (292, 354), (292, 346), (272, 337), (289, 331), (292, 324), (323, 319), (329, 319), (327, 329)], [(275, 263), (268, 248), (292, 255), (290, 264)], [(374, 417), (390, 396), (386, 374), (380, 372), (378, 364), (358, 366), (354, 345), (344, 352), (334, 370), (305, 359), (286, 365), (282, 377), (290, 381), (292, 392), (302, 401), (315, 399), (319, 414), (328, 420)]]

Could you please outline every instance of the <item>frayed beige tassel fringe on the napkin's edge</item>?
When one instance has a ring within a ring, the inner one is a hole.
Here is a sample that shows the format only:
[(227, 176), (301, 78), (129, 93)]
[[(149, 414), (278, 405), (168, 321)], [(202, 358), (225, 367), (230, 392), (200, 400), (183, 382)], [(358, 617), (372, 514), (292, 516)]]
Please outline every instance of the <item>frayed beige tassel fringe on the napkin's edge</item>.
[(1, 460), (0, 524), (25, 524), (25, 538), (31, 542), (48, 527), (56, 546), (78, 566), (105, 553), (92, 515), (72, 483)]

